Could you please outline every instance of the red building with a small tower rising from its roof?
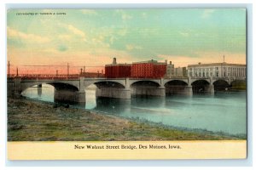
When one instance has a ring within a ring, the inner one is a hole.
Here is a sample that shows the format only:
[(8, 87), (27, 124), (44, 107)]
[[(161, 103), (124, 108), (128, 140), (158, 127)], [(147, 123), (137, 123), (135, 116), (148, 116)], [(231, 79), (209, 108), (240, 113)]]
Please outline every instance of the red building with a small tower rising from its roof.
[(105, 65), (105, 77), (131, 77), (131, 64), (117, 64), (116, 58), (113, 58), (113, 63)]

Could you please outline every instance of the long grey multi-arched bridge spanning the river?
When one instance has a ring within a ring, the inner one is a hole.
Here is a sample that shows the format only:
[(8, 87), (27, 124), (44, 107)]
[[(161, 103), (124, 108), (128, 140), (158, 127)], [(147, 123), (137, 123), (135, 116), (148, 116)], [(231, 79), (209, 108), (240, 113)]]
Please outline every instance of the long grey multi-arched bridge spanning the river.
[(26, 88), (50, 84), (55, 88), (55, 101), (85, 103), (85, 91), (95, 84), (96, 96), (131, 99), (133, 94), (165, 96), (166, 93), (192, 95), (203, 90), (214, 94), (214, 85), (230, 87), (234, 81), (245, 77), (163, 77), (163, 78), (106, 78), (106, 77), (13, 77), (8, 79), (9, 97), (19, 97)]

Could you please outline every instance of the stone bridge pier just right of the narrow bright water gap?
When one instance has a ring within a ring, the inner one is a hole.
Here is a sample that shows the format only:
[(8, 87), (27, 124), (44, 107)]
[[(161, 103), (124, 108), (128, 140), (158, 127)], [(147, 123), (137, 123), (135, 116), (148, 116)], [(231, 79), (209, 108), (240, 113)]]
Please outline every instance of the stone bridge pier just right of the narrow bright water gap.
[(96, 97), (131, 99), (130, 88), (97, 88)]

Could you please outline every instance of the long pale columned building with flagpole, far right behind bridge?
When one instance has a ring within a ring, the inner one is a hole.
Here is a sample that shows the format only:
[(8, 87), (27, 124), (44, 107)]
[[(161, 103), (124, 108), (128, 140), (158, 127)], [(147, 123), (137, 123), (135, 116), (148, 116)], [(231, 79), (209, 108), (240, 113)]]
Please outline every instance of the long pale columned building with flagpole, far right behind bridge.
[(189, 77), (246, 77), (246, 65), (230, 63), (210, 63), (188, 65)]

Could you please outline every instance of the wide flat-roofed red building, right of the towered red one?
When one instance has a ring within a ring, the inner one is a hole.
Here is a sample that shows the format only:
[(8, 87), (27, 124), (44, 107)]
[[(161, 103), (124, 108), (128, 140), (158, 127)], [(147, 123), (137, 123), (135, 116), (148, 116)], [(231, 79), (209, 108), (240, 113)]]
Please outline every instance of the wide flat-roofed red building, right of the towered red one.
[(158, 62), (154, 59), (134, 62), (131, 65), (131, 77), (164, 77), (166, 65), (166, 62)]

